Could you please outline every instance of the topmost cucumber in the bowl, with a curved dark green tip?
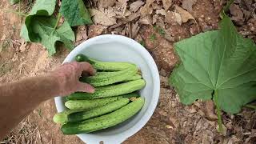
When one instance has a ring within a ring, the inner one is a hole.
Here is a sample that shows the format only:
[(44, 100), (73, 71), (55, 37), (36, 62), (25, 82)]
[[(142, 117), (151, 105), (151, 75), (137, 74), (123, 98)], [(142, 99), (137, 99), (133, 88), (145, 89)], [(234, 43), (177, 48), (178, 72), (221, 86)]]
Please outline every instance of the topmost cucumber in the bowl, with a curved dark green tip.
[(130, 62), (101, 62), (93, 58), (89, 58), (84, 54), (78, 54), (75, 57), (77, 62), (89, 62), (97, 70), (126, 70), (130, 66), (135, 66)]

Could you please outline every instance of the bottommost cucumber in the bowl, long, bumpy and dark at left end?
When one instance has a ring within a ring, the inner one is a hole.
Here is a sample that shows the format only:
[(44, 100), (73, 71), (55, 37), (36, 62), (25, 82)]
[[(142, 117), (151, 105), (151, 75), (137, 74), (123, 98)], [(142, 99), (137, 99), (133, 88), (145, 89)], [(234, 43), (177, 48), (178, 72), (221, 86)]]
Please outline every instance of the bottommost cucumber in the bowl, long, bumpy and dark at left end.
[(63, 134), (82, 134), (90, 133), (96, 130), (106, 129), (110, 126), (115, 126), (121, 122), (131, 118), (138, 113), (144, 105), (144, 98), (137, 98), (134, 102), (115, 110), (114, 112), (102, 115), (97, 118), (91, 118), (83, 122), (66, 123), (62, 126)]

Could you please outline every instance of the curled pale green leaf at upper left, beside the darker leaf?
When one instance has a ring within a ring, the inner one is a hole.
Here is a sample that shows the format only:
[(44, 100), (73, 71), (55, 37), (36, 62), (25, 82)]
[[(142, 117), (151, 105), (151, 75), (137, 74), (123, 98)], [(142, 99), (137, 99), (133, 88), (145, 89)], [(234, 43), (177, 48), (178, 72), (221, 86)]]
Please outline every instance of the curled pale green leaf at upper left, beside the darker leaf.
[(22, 38), (27, 42), (42, 43), (50, 55), (56, 53), (57, 41), (63, 42), (70, 50), (74, 48), (74, 31), (68, 22), (64, 22), (57, 30), (54, 28), (57, 20), (51, 15), (54, 13), (55, 4), (56, 0), (37, 0), (21, 30)]

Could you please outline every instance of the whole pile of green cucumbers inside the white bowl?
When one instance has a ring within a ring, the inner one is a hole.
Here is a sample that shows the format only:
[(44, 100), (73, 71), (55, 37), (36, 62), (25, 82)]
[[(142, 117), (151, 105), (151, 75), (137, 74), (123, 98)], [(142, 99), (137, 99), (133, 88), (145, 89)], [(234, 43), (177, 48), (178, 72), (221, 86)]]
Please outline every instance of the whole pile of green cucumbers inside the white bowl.
[(90, 62), (97, 73), (81, 77), (81, 82), (95, 87), (94, 94), (76, 92), (66, 96), (67, 110), (54, 115), (54, 122), (62, 124), (63, 134), (82, 134), (106, 129), (137, 114), (144, 98), (137, 90), (146, 82), (137, 68), (129, 62), (100, 62), (83, 54), (78, 62)]

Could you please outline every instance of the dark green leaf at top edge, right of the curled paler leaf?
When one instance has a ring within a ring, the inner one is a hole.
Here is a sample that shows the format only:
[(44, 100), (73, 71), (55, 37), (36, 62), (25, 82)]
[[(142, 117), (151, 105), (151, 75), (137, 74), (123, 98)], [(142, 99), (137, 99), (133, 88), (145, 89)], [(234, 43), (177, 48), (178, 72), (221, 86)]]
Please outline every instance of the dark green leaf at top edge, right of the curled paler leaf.
[(69, 22), (70, 26), (92, 24), (89, 11), (82, 0), (62, 0), (60, 13)]

